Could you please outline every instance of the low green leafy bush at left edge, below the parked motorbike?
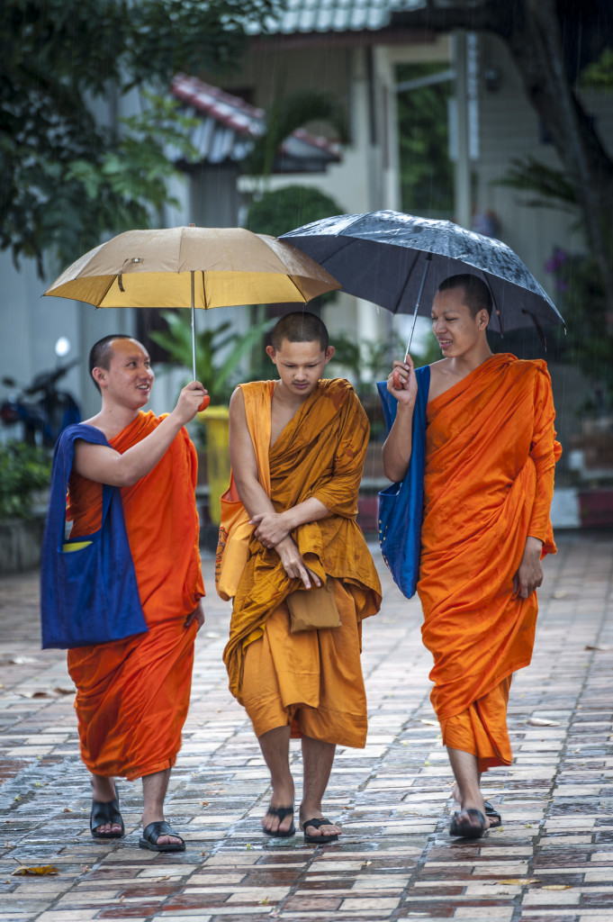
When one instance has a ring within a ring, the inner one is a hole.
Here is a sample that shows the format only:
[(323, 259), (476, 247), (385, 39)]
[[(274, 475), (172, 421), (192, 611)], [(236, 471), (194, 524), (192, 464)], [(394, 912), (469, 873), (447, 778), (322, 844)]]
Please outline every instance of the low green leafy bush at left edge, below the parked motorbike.
[(0, 445), (0, 519), (28, 518), (33, 494), (49, 486), (51, 460), (23, 442)]

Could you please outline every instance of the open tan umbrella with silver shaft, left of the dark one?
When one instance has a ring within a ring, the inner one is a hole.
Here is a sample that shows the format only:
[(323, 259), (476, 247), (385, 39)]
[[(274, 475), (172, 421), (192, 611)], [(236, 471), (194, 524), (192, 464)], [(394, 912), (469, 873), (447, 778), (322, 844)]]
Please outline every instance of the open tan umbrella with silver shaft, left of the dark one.
[(306, 303), (339, 289), (290, 243), (244, 228), (125, 231), (68, 266), (44, 294), (95, 307), (191, 307)]

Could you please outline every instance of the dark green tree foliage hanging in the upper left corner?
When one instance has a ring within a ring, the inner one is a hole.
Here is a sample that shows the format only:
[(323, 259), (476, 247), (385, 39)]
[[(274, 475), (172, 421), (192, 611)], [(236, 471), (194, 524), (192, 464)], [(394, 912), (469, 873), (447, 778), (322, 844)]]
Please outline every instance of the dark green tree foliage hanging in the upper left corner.
[[(0, 23), (0, 248), (63, 262), (169, 201), (164, 144), (186, 123), (160, 95), (103, 125), (98, 100), (222, 71), (279, 0), (5, 0)], [(183, 155), (189, 150), (183, 146)]]

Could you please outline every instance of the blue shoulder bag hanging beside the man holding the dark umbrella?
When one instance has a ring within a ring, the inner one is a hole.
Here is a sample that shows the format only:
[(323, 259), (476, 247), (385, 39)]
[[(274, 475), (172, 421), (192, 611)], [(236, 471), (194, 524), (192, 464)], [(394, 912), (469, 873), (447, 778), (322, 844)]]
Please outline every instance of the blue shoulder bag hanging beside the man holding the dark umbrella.
[[(426, 407), (430, 388), (430, 365), (415, 371), (418, 396), (413, 411), (411, 460), (405, 479), (379, 493), (379, 544), (383, 560), (403, 596), (415, 595), (419, 576), (421, 520), (423, 515), (423, 476), (426, 458)], [(383, 404), (385, 428), (394, 424), (398, 402), (387, 390), (387, 382), (377, 382)]]

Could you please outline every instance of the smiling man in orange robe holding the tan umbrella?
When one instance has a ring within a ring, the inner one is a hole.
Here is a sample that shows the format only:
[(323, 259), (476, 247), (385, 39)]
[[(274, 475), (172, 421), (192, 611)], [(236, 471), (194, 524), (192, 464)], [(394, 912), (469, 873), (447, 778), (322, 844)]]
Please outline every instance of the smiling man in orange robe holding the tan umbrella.
[(154, 374), (147, 350), (130, 337), (101, 339), (91, 349), (89, 368), (102, 406), (85, 425), (102, 431), (109, 444), (75, 442), (66, 514), (70, 537), (100, 528), (101, 484), (121, 488), (147, 621), (145, 633), (68, 652), (81, 755), (91, 773), (91, 834), (124, 834), (114, 778), (142, 778), (139, 845), (183, 851), (182, 837), (164, 820), (163, 804), (189, 705), (195, 633), (204, 622), (197, 460), (183, 427), (206, 391), (192, 382), (171, 414), (142, 412)]

